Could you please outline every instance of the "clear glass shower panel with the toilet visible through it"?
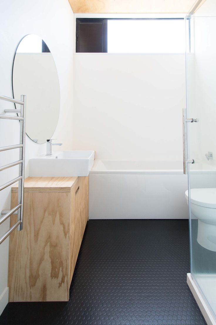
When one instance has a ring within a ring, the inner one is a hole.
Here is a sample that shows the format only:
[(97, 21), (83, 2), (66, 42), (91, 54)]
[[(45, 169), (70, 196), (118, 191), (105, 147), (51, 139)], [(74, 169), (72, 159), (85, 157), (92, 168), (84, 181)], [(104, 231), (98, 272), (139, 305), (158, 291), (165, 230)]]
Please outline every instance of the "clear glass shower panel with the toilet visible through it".
[[(186, 24), (187, 25), (187, 24)], [(216, 17), (193, 17), (187, 51), (191, 274), (216, 318)], [(187, 195), (186, 195), (187, 196)]]

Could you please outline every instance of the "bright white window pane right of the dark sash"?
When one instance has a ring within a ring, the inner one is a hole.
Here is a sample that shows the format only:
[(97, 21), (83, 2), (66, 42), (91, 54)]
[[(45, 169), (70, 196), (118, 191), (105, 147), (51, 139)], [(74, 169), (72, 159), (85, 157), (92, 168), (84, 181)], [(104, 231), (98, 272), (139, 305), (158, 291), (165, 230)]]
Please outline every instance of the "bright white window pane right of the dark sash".
[(183, 53), (184, 19), (108, 19), (108, 53)]

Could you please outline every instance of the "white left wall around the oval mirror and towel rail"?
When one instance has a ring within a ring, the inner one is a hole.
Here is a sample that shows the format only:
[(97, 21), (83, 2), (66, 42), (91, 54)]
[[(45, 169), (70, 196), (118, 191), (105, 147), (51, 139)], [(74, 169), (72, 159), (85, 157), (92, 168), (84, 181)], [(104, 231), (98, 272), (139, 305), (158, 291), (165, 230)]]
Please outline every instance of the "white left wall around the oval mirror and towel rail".
[[(0, 89), (1, 94), (12, 96), (11, 69), (14, 51), (19, 40), (26, 34), (38, 34), (50, 48), (59, 75), (61, 109), (59, 123), (53, 137), (63, 142), (62, 149), (72, 149), (73, 113), (73, 12), (67, 0), (1, 0), (0, 10)], [(0, 114), (13, 105), (0, 101)], [(18, 143), (19, 122), (0, 120), (0, 146)], [(26, 176), (28, 160), (44, 153), (46, 145), (33, 143), (27, 137)], [(55, 149), (55, 148), (53, 148)], [(57, 148), (59, 149), (59, 148)], [(16, 160), (15, 152), (2, 152), (1, 165)], [(17, 169), (1, 172), (0, 183), (17, 176)], [(10, 207), (10, 188), (0, 192), (0, 211)], [(0, 236), (9, 228), (9, 220), (0, 226)], [(8, 239), (0, 245), (0, 314), (7, 303)]]

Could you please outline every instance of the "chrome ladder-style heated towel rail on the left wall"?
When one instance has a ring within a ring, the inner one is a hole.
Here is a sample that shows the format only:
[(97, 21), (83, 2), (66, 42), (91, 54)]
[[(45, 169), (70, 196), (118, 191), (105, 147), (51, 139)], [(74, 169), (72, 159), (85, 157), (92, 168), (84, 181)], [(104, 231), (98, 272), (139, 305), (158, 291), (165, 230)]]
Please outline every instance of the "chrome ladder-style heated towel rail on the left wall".
[(18, 183), (18, 204), (11, 210), (3, 210), (3, 217), (0, 219), (0, 225), (12, 214), (17, 214), (17, 222), (0, 238), (0, 244), (17, 228), (23, 229), (23, 197), (24, 197), (24, 174), (25, 174), (25, 139), (26, 139), (26, 96), (22, 95), (20, 100), (0, 95), (0, 99), (20, 105), (20, 109), (6, 109), (5, 113), (20, 113), (20, 116), (0, 115), (1, 119), (19, 120), (20, 121), (20, 138), (19, 144), (0, 148), (0, 151), (19, 148), (19, 160), (0, 167), (0, 171), (19, 165), (19, 176), (0, 186), (0, 191), (17, 181)]

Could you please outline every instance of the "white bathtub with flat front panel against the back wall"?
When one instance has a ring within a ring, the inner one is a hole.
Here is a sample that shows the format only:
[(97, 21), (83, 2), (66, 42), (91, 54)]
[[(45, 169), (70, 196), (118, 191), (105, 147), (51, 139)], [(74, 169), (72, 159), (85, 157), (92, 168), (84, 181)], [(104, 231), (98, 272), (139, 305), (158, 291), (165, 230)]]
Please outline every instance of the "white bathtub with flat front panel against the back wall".
[(90, 219), (186, 219), (181, 161), (96, 159), (89, 175)]

